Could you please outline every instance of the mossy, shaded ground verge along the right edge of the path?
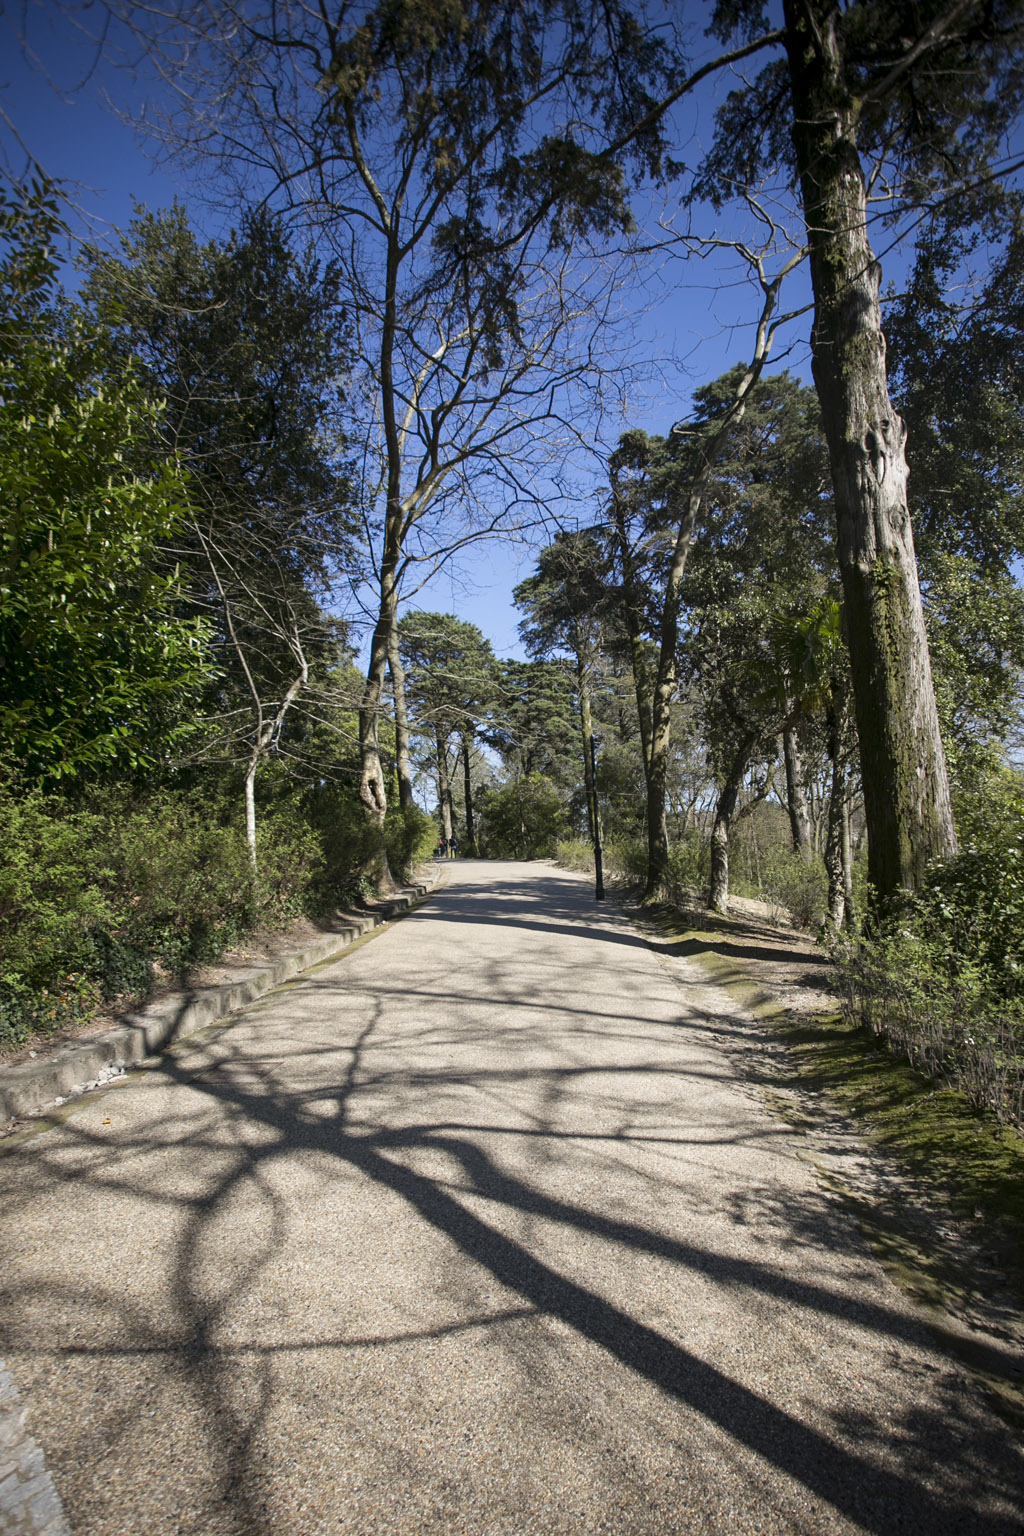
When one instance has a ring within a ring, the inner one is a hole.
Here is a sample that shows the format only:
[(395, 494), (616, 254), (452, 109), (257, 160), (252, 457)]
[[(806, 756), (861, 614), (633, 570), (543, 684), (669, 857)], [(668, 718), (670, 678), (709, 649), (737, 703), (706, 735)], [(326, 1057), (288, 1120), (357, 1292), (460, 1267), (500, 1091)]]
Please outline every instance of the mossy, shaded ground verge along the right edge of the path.
[[(852, 1178), (820, 1164), (821, 1181), (894, 1279), (930, 1312), (932, 1327), (993, 1407), (1024, 1428), (1015, 1342), (1024, 1303), (1019, 1130), (912, 1066), (849, 1011), (797, 1001), (794, 983), (798, 992), (811, 980), (817, 991), (818, 977), (827, 980), (827, 957), (815, 954), (809, 935), (788, 934), (789, 960), (777, 955), (769, 965), (758, 951), (780, 931), (746, 911), (656, 908), (649, 923), (657, 945), (695, 958), (709, 982), (761, 1021), (766, 1038), (786, 1044), (749, 1068), (774, 1115), (797, 1134), (823, 1132), (826, 1146), (843, 1127), (878, 1149), (881, 1160), (858, 1163)], [(950, 1315), (967, 1326), (950, 1329)], [(987, 1319), (990, 1329), (993, 1318), (1006, 1330), (1003, 1350), (973, 1336), (973, 1326)]]

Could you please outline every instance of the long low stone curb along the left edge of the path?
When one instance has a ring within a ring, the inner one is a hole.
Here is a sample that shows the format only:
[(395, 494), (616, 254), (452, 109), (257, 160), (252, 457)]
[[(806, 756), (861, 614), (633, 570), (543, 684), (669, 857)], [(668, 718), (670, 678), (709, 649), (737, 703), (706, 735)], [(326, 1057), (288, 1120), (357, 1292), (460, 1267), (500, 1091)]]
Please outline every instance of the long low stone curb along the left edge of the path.
[(81, 1043), (61, 1046), (51, 1057), (26, 1061), (21, 1066), (0, 1068), (0, 1126), (8, 1120), (38, 1114), (55, 1100), (68, 1098), (75, 1087), (95, 1086), (98, 1078), (111, 1075), (111, 1068), (120, 1069), (144, 1061), (146, 1057), (157, 1055), (180, 1035), (190, 1035), (197, 1029), (224, 1018), (226, 1014), (233, 1014), (239, 1008), (255, 1003), (264, 992), (281, 986), (282, 982), (290, 982), (292, 977), (309, 971), (310, 966), (333, 960), (356, 938), (381, 928), (399, 912), (407, 912), (415, 902), (428, 895), (439, 880), (439, 872), (431, 871), (431, 874), (433, 879), (405, 886), (381, 909), (379, 915), (356, 917), (306, 949), (299, 949), (284, 960), (276, 960), (270, 966), (249, 971), (236, 982), (193, 992), (178, 992), (154, 1008), (127, 1014), (126, 1021), (114, 1029), (91, 1035)]

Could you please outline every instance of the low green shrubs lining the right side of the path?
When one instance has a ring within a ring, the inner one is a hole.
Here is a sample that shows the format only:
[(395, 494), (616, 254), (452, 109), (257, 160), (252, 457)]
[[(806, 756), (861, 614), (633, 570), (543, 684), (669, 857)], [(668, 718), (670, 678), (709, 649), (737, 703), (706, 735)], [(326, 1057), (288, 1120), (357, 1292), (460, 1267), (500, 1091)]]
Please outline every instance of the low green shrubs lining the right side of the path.
[[(732, 891), (765, 903), (775, 925), (817, 938), (829, 988), (847, 1026), (878, 1038), (930, 1084), (963, 1094), (973, 1112), (1024, 1135), (1024, 831), (1019, 805), (995, 817), (986, 842), (938, 865), (913, 895), (872, 912), (858, 879), (854, 931), (826, 922), (826, 872), (775, 836), (771, 806), (751, 819)], [(761, 823), (758, 828), (758, 822)], [(585, 840), (557, 845), (559, 863), (593, 872)], [(605, 876), (642, 895), (643, 843), (602, 848)], [(680, 914), (708, 906), (711, 854), (692, 836), (672, 848), (659, 905)], [(860, 871), (863, 872), (863, 871)], [(858, 874), (860, 874), (858, 872)]]

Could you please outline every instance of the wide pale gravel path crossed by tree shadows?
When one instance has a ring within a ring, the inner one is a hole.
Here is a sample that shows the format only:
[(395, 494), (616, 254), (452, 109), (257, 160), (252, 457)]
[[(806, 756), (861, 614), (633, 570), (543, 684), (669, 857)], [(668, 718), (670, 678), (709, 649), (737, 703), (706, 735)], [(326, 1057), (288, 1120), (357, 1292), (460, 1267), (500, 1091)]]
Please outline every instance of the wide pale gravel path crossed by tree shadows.
[(433, 902), (0, 1157), (71, 1527), (1024, 1528), (1021, 1448), (577, 876)]

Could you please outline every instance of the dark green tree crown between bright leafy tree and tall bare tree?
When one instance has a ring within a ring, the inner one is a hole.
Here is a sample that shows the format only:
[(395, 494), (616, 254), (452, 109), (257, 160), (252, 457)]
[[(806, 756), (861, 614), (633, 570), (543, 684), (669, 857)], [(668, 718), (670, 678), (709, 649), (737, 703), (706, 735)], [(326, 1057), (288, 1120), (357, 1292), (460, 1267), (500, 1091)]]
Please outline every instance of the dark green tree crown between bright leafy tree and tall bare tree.
[(313, 694), (345, 639), (322, 611), (356, 545), (338, 273), (266, 209), (201, 243), (178, 204), (138, 209), (120, 253), (89, 249), (83, 264), (111, 347), (164, 401), (143, 452), (189, 473), (181, 611), (210, 621), (218, 664), (203, 753), (263, 766), (272, 739), (310, 745)]

